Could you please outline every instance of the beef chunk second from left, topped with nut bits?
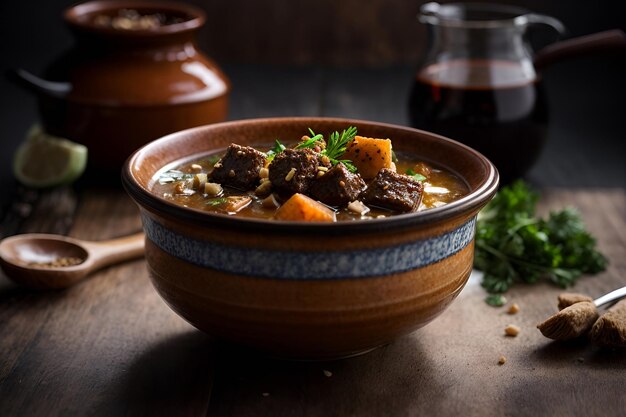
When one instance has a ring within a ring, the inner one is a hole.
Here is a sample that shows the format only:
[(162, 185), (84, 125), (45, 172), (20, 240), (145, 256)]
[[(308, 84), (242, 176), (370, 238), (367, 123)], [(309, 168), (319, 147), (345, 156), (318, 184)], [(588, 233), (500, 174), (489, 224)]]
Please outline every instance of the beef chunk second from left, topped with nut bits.
[(285, 149), (269, 166), (272, 189), (281, 195), (306, 194), (319, 165), (319, 155), (311, 149)]

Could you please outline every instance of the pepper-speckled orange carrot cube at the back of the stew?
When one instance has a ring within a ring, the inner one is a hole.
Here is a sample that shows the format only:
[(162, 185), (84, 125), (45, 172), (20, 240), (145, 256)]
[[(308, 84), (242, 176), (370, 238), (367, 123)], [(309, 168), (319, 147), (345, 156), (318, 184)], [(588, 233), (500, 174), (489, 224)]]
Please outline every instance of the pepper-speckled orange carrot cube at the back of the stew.
[(341, 159), (351, 160), (363, 178), (374, 178), (382, 168), (392, 169), (391, 141), (355, 136)]

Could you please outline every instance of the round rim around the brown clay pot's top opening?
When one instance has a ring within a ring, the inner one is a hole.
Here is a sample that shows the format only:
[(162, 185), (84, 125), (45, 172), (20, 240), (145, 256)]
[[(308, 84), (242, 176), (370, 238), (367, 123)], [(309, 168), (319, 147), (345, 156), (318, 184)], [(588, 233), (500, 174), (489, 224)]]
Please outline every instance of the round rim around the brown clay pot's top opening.
[[(181, 22), (160, 25), (149, 29), (117, 29), (99, 25), (98, 15), (116, 16), (119, 10), (136, 10), (142, 14), (163, 13), (183, 19)], [(65, 22), (73, 29), (125, 38), (145, 38), (194, 31), (204, 25), (204, 12), (194, 6), (168, 1), (147, 0), (93, 0), (71, 6), (63, 13)]]

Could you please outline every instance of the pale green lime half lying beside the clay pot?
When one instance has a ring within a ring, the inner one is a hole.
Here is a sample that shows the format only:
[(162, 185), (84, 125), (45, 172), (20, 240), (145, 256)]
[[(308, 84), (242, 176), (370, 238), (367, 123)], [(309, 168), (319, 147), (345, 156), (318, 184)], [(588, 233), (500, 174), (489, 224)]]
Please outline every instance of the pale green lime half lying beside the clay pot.
[(84, 145), (32, 128), (13, 157), (13, 173), (22, 184), (45, 188), (68, 184), (85, 171)]

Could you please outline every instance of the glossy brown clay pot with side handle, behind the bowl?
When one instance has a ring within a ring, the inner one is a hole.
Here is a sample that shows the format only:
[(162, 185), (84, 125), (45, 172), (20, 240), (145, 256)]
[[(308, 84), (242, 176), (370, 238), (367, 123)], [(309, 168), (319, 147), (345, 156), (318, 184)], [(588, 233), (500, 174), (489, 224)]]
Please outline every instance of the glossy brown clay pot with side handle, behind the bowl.
[[(102, 24), (122, 9), (161, 13), (176, 22), (139, 30)], [(44, 79), (18, 70), (37, 94), (41, 123), (53, 135), (83, 143), (89, 168), (115, 171), (141, 145), (181, 129), (226, 119), (229, 81), (198, 50), (205, 22), (192, 6), (161, 1), (90, 1), (68, 8), (74, 46)], [(104, 18), (106, 20), (106, 18)]]

